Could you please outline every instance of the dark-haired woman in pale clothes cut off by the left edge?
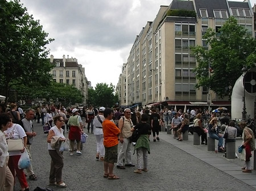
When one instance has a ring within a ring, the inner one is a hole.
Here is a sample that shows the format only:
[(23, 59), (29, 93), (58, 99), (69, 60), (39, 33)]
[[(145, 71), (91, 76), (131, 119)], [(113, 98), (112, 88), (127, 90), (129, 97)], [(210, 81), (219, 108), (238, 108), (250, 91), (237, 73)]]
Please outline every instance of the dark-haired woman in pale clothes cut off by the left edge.
[(0, 114), (0, 190), (13, 191), (14, 177), (8, 167), (9, 152), (3, 131), (11, 124), (11, 118), (7, 113)]

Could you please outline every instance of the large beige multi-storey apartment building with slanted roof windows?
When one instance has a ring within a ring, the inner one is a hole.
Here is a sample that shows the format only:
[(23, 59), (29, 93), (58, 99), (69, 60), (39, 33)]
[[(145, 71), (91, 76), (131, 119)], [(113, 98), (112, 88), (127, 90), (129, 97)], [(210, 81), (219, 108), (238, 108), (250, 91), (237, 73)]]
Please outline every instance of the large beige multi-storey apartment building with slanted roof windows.
[[(180, 11), (185, 16), (168, 16)], [(254, 18), (250, 2), (226, 0), (173, 0), (170, 6), (160, 6), (153, 22), (135, 38), (127, 63), (119, 76), (120, 105), (230, 105), (208, 88), (195, 88), (193, 69), (197, 63), (191, 47), (209, 49), (203, 39), (208, 28), (218, 28), (230, 16), (254, 36)], [(217, 34), (218, 35), (218, 34)], [(210, 98), (209, 98), (210, 97)], [(210, 100), (209, 100), (210, 99)]]

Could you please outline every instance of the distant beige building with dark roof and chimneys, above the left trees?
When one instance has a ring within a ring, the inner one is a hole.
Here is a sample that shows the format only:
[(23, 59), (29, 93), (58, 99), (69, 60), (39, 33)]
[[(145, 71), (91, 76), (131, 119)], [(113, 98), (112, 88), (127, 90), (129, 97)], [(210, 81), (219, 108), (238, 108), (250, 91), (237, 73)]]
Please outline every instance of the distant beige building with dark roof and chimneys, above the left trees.
[(81, 90), (84, 101), (79, 104), (86, 105), (90, 82), (85, 77), (84, 67), (77, 62), (76, 58), (65, 58), (65, 55), (63, 55), (63, 58), (53, 58), (53, 55), (51, 55), (50, 62), (55, 64), (51, 71), (53, 80), (57, 83), (73, 85)]

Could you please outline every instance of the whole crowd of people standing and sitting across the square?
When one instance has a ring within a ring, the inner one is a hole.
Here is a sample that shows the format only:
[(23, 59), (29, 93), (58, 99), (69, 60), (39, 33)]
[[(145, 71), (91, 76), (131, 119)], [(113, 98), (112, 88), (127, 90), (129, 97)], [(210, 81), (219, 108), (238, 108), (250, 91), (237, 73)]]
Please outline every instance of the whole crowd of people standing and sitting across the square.
[[(202, 113), (202, 112), (201, 112)], [(67, 185), (62, 180), (64, 167), (63, 151), (60, 146), (67, 141), (64, 135), (65, 129), (68, 133), (69, 154), (81, 155), (82, 144), (81, 135), (84, 129), (96, 136), (96, 160), (104, 162), (103, 177), (109, 180), (117, 180), (119, 176), (114, 174), (114, 163), (118, 169), (135, 167), (132, 163), (132, 154), (137, 154), (137, 169), (134, 173), (141, 174), (147, 172), (147, 158), (150, 154), (150, 136), (153, 142), (160, 141), (159, 130), (162, 125), (166, 126), (171, 122), (171, 129), (177, 141), (183, 141), (182, 134), (188, 130), (189, 121), (193, 122), (193, 131), (201, 136), (201, 144), (207, 145), (207, 133), (210, 138), (218, 140), (218, 151), (224, 152), (227, 142), (236, 141), (237, 131), (234, 122), (230, 121), (225, 129), (228, 137), (223, 145), (223, 137), (217, 130), (217, 118), (214, 114), (210, 116), (208, 111), (204, 115), (209, 115), (209, 126), (202, 124), (202, 114), (200, 110), (192, 109), (182, 113), (181, 110), (175, 112), (173, 109), (137, 109), (134, 108), (68, 108), (58, 107), (38, 107), (26, 109), (21, 114), (16, 104), (10, 104), (10, 109), (0, 113), (0, 190), (13, 190), (14, 177), (17, 176), (20, 183), (20, 190), (29, 190), (26, 176), (30, 180), (37, 180), (32, 168), (32, 163), (26, 169), (19, 169), (18, 162), (22, 153), (26, 150), (32, 161), (31, 146), (32, 140), (36, 137), (32, 120), (42, 125), (49, 125), (47, 137), (48, 152), (51, 157), (51, 169), (49, 172), (49, 184), (59, 187)], [(171, 116), (171, 117), (170, 117)], [(164, 120), (165, 119), (165, 120)], [(192, 120), (191, 120), (192, 119)], [(245, 149), (245, 166), (243, 172), (251, 172), (250, 157), (251, 151), (255, 150), (254, 134), (246, 127), (245, 122), (241, 122), (243, 128), (243, 147)], [(208, 129), (208, 130), (205, 130)], [(208, 131), (208, 132), (207, 132)], [(225, 133), (224, 132), (224, 133)], [(138, 134), (136, 143), (131, 141), (134, 133)], [(8, 151), (8, 139), (22, 139), (23, 149), (18, 151)], [(132, 147), (135, 144), (135, 147)]]

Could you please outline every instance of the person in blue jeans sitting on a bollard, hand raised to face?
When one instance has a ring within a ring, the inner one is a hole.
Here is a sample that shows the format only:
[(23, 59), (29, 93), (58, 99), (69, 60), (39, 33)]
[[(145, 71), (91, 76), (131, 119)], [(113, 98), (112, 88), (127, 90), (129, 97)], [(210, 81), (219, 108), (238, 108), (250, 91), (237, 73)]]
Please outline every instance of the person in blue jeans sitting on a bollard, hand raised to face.
[(209, 137), (218, 140), (218, 152), (224, 152), (223, 137), (218, 133), (217, 117), (213, 117), (209, 122)]

